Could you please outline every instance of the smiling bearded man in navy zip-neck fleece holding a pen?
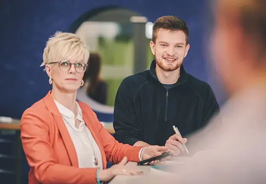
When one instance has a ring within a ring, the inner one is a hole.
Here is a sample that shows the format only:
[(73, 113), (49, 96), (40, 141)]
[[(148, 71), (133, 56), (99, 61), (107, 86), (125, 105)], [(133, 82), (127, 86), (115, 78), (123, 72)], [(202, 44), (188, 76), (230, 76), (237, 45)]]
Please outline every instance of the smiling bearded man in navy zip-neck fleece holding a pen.
[(211, 87), (185, 72), (189, 30), (176, 16), (162, 16), (153, 26), (150, 70), (126, 77), (116, 94), (114, 137), (134, 146), (165, 145), (178, 155), (182, 136), (202, 128), (219, 110)]

